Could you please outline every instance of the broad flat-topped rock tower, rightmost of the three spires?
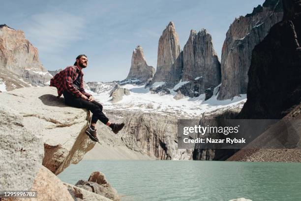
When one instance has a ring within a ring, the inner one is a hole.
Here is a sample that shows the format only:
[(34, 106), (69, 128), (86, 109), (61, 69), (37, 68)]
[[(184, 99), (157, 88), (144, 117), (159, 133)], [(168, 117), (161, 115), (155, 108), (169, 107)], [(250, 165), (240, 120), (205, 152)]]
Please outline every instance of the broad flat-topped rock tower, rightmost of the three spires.
[(189, 97), (204, 94), (206, 89), (220, 84), (220, 63), (213, 48), (211, 35), (205, 29), (199, 33), (190, 31), (183, 49), (181, 81), (191, 82), (186, 84), (185, 89), (179, 89)]

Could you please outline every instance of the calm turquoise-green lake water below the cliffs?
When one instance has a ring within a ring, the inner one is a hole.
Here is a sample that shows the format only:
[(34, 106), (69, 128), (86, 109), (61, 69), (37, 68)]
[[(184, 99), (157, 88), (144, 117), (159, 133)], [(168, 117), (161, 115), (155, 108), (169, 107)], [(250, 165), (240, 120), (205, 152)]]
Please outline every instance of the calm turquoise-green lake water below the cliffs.
[(81, 161), (59, 177), (74, 185), (93, 171), (122, 201), (301, 201), (301, 163)]

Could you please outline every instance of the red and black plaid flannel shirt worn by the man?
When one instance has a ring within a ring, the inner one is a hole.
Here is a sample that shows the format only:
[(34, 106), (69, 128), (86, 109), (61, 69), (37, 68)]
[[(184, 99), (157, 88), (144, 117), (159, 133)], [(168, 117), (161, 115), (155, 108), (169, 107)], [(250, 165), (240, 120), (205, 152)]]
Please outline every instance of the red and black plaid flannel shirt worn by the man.
[[(80, 90), (74, 87), (73, 84), (78, 75), (81, 76)], [(84, 73), (77, 66), (66, 67), (50, 80), (50, 86), (58, 89), (58, 97), (62, 95), (63, 91), (67, 91), (77, 98), (81, 97), (82, 94), (89, 98), (91, 95), (84, 90), (83, 76)]]

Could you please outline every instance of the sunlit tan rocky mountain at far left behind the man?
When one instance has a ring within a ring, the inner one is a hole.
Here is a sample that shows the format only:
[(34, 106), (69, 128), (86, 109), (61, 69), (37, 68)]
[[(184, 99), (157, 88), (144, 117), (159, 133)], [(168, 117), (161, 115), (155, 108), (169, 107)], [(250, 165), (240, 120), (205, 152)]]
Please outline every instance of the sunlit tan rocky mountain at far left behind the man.
[(0, 67), (37, 86), (48, 85), (52, 78), (24, 33), (6, 25), (0, 26)]

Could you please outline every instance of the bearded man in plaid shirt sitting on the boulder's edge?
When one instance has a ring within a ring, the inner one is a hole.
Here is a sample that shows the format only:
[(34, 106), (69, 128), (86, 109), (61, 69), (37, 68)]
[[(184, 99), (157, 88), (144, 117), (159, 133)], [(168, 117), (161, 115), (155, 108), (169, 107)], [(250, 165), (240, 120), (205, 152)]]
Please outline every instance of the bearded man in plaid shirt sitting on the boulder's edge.
[(102, 105), (95, 101), (90, 94), (85, 92), (83, 84), (84, 73), (82, 72), (82, 69), (87, 66), (87, 56), (79, 55), (76, 58), (74, 66), (66, 67), (51, 79), (50, 86), (56, 87), (58, 89), (58, 97), (63, 94), (65, 103), (67, 105), (78, 108), (85, 108), (93, 113), (91, 125), (85, 131), (85, 133), (89, 135), (91, 140), (98, 142), (95, 129), (97, 120), (100, 120), (102, 123), (109, 126), (115, 134), (117, 134), (123, 128), (124, 123), (111, 123), (102, 112)]

